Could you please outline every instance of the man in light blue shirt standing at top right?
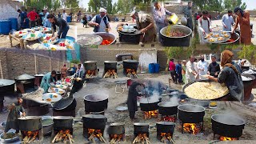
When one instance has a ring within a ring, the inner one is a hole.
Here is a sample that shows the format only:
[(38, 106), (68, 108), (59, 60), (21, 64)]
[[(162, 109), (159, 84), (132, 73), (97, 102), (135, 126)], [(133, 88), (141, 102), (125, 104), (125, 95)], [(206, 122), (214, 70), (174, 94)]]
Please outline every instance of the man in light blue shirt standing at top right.
[(232, 10), (229, 10), (227, 14), (224, 14), (222, 17), (223, 31), (231, 31), (232, 26), (234, 25), (234, 18), (232, 17)]

